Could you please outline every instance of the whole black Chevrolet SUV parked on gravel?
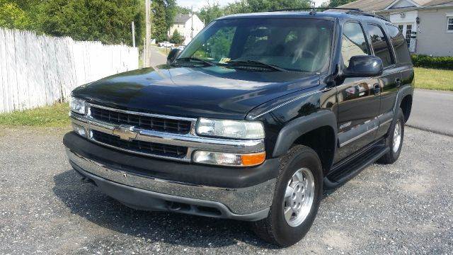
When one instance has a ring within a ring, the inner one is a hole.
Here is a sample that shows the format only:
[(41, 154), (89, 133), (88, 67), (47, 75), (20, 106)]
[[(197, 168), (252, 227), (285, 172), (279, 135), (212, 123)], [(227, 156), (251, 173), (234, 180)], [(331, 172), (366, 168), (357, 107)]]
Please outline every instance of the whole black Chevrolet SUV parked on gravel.
[(167, 64), (75, 89), (64, 145), (131, 208), (250, 221), (289, 246), (323, 189), (398, 159), (413, 82), (407, 42), (382, 17), (226, 16)]

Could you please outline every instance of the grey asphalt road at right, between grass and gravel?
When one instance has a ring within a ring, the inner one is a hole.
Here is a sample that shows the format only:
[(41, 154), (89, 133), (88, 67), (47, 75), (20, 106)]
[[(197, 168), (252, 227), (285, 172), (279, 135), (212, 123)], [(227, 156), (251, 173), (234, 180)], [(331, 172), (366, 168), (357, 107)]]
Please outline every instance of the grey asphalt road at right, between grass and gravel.
[(416, 89), (407, 125), (453, 136), (453, 92)]

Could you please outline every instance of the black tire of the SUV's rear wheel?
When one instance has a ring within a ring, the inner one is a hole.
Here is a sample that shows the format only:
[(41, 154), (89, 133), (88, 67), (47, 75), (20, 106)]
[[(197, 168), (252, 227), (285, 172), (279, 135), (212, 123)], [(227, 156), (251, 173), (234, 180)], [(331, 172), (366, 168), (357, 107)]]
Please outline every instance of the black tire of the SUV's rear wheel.
[[(391, 123), (389, 128), (389, 134), (386, 138), (386, 145), (389, 146), (390, 150), (382, 158), (380, 158), (377, 163), (379, 164), (394, 164), (398, 160), (399, 155), (401, 154), (401, 148), (403, 147), (404, 141), (404, 114), (401, 108), (398, 108), (398, 113), (395, 120)], [(395, 130), (397, 125), (401, 126), (401, 140), (398, 145), (398, 149), (395, 148)]]

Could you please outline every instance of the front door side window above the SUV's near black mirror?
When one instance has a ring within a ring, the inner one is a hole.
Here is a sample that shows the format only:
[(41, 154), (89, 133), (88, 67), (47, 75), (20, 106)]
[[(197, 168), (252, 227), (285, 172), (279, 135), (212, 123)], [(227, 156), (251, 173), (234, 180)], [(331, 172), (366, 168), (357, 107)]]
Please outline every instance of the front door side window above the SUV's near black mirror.
[(343, 26), (341, 55), (343, 56), (345, 67), (349, 67), (351, 57), (369, 55), (365, 34), (359, 23), (346, 23)]

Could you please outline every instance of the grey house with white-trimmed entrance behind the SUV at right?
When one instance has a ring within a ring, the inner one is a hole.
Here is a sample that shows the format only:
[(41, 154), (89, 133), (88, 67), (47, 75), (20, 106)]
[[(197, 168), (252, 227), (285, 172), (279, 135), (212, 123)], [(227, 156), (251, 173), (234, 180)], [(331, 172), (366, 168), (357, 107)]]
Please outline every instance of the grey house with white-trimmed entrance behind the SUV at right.
[(358, 0), (338, 7), (385, 16), (413, 54), (453, 56), (453, 0)]

